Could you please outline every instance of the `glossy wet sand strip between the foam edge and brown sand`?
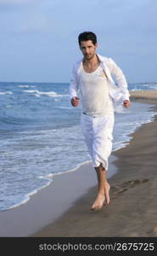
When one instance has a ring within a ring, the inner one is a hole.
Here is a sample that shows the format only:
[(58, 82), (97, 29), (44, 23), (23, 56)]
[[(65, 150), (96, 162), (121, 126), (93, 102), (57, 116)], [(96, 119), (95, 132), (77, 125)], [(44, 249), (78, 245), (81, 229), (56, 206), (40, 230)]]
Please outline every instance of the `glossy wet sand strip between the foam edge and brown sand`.
[[(112, 172), (108, 177), (117, 172), (115, 160), (114, 155), (109, 160)], [(54, 223), (96, 183), (92, 162), (82, 164), (75, 171), (54, 175), (53, 182), (31, 195), (25, 204), (0, 212), (0, 237), (31, 236)]]

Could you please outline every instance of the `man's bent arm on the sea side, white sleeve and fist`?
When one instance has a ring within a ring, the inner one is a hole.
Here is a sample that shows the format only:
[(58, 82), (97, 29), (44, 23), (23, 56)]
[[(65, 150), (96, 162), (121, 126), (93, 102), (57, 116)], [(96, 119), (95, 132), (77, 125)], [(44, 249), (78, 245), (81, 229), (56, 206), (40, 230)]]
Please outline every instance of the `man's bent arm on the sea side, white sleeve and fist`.
[(72, 68), (72, 78), (70, 79), (70, 102), (73, 107), (77, 107), (79, 105), (79, 98), (77, 96), (78, 93), (78, 79), (76, 74), (76, 67)]

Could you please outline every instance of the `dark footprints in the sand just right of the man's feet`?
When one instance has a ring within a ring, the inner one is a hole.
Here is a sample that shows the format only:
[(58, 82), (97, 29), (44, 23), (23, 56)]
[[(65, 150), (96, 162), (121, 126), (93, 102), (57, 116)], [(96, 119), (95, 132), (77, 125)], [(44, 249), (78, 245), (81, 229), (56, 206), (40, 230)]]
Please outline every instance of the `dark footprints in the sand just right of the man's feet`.
[(127, 189), (133, 188), (137, 184), (147, 183), (148, 181), (149, 181), (148, 178), (132, 179), (124, 183), (121, 183), (121, 185), (119, 186), (111, 187), (111, 191), (113, 191), (115, 194), (121, 194), (125, 192)]

